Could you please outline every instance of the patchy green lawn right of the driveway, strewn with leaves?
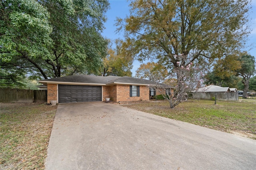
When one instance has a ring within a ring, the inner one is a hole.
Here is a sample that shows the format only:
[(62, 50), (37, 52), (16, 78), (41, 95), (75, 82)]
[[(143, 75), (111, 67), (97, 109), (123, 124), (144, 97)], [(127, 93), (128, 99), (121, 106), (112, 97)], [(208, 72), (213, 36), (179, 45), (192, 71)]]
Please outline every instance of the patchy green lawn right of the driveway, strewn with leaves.
[(147, 113), (256, 139), (256, 101), (188, 100), (170, 109), (167, 101), (123, 105)]

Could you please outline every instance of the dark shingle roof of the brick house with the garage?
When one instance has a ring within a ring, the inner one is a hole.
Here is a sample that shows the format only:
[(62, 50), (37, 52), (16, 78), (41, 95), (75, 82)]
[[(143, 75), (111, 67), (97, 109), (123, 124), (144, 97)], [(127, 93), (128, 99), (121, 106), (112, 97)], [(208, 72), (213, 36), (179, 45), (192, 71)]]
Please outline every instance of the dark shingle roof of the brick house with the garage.
[[(94, 75), (69, 75), (65, 77), (56, 77), (38, 81), (43, 84), (47, 83), (79, 83), (79, 84), (95, 84), (95, 85), (110, 85), (110, 84), (130, 84), (130, 85), (154, 85), (155, 83), (146, 79), (137, 79), (133, 77), (119, 76), (94, 76)], [(159, 85), (167, 87), (167, 85), (159, 83)]]

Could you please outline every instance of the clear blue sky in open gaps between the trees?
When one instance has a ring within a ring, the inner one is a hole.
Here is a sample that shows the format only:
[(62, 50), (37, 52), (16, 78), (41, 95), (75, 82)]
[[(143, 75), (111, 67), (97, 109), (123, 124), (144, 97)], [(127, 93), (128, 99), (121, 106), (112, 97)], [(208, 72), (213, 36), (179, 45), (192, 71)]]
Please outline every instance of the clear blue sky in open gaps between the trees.
[[(130, 2), (127, 2), (126, 0), (109, 0), (110, 2), (110, 10), (106, 13), (106, 16), (108, 18), (107, 22), (104, 24), (105, 30), (103, 31), (102, 35), (105, 38), (108, 38), (110, 40), (115, 40), (117, 38), (124, 39), (123, 32), (116, 33), (116, 26), (115, 20), (116, 17), (119, 18), (125, 18), (126, 16), (129, 16), (129, 4)], [(248, 51), (248, 53), (254, 57), (256, 57), (256, 0), (252, 0), (252, 10), (250, 13), (251, 17), (251, 29), (252, 32), (248, 36), (246, 48), (242, 51)], [(146, 63), (148, 61), (144, 61)], [(140, 62), (134, 61), (133, 68), (132, 68), (132, 76), (135, 75), (136, 69), (140, 67)]]

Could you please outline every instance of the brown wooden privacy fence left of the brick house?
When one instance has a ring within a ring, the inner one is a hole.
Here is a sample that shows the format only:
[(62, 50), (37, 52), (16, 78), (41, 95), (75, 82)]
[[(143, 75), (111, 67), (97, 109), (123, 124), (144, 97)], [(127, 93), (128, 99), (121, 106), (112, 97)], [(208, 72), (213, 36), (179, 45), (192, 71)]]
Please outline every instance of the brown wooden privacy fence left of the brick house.
[(46, 102), (47, 90), (26, 90), (1, 88), (0, 101), (2, 103), (33, 103)]

